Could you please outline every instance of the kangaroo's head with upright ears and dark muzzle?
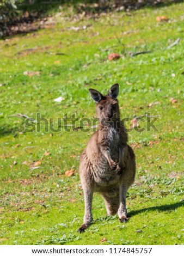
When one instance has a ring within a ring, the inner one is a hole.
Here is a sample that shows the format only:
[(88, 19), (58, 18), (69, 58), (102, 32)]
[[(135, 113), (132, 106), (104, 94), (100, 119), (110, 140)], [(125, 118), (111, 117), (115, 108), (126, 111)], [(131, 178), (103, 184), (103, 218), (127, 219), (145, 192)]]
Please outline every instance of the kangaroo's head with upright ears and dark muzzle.
[(107, 95), (102, 95), (94, 89), (89, 89), (92, 99), (96, 102), (96, 111), (100, 121), (113, 121), (119, 118), (118, 97), (119, 85), (114, 84), (108, 91)]

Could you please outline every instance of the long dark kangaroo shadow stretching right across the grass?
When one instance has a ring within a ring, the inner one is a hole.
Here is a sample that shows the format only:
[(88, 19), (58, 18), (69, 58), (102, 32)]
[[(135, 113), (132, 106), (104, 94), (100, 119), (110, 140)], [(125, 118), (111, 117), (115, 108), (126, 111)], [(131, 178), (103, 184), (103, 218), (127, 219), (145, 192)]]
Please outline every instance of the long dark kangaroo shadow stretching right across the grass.
[(152, 207), (143, 208), (136, 211), (131, 211), (129, 212), (128, 217), (132, 217), (134, 215), (141, 214), (142, 212), (147, 212), (147, 211), (148, 212), (149, 211), (173, 211), (181, 206), (184, 206), (184, 202), (177, 202), (175, 204), (164, 204), (160, 206), (152, 206)]

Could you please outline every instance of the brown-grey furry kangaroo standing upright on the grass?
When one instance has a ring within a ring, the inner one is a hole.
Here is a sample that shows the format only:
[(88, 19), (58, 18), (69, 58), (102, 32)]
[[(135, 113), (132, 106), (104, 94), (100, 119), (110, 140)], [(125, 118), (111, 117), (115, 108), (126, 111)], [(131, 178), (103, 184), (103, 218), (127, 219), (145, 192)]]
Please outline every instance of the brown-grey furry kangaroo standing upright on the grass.
[(118, 100), (119, 85), (114, 84), (107, 95), (89, 89), (96, 102), (100, 120), (97, 131), (83, 151), (79, 175), (84, 191), (84, 222), (78, 229), (81, 233), (91, 224), (93, 193), (100, 192), (105, 199), (107, 216), (118, 212), (120, 222), (126, 222), (126, 193), (133, 184), (136, 160), (133, 149), (127, 145), (125, 126), (120, 121)]

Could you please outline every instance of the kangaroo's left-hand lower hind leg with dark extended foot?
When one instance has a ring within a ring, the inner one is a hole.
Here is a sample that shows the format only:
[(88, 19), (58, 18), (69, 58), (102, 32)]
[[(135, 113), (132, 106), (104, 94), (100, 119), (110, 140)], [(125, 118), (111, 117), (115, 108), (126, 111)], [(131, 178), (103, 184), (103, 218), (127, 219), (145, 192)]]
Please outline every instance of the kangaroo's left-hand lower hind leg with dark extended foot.
[(85, 203), (84, 223), (78, 229), (79, 233), (87, 229), (87, 227), (93, 221), (93, 216), (91, 212), (92, 200), (93, 200), (93, 191), (88, 187), (84, 188), (84, 203)]

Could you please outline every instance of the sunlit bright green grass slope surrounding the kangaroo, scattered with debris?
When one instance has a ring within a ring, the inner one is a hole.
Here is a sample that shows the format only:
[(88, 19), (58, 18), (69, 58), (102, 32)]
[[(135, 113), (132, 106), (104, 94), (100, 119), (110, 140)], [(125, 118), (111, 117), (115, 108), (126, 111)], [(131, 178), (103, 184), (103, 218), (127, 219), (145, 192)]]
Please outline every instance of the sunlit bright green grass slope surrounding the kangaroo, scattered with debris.
[[(107, 245), (183, 244), (183, 8), (180, 3), (96, 20), (59, 16), (50, 28), (0, 41), (2, 245), (99, 245), (103, 237)], [(170, 21), (157, 23), (158, 15)], [(72, 26), (87, 29), (67, 29)], [(179, 44), (168, 50), (177, 38)], [(139, 51), (151, 53), (128, 54)], [(109, 62), (111, 52), (122, 58)], [(88, 89), (107, 93), (114, 83), (120, 85), (121, 117), (158, 115), (158, 131), (128, 133), (137, 160), (127, 197), (130, 221), (106, 220), (103, 199), (95, 194), (93, 224), (78, 234), (84, 214), (79, 155), (93, 131), (66, 132), (62, 123), (62, 131), (46, 132), (40, 122), (40, 132), (25, 133), (25, 119), (9, 116), (40, 113), (56, 126), (66, 113), (92, 119), (95, 103)], [(65, 100), (54, 102), (59, 96)], [(157, 104), (149, 107), (151, 102)], [(33, 168), (36, 161), (39, 168)], [(71, 168), (75, 174), (68, 178), (64, 174)]]

